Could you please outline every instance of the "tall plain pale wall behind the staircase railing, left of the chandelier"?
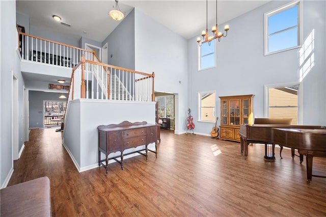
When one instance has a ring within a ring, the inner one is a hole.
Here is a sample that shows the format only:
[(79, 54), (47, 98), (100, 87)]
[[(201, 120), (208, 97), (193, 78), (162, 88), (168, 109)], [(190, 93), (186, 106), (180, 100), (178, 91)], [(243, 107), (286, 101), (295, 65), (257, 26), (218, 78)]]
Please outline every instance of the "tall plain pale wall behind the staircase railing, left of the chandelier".
[(134, 14), (135, 70), (154, 72), (154, 90), (178, 96), (175, 133), (182, 133), (188, 109), (187, 40), (137, 9)]

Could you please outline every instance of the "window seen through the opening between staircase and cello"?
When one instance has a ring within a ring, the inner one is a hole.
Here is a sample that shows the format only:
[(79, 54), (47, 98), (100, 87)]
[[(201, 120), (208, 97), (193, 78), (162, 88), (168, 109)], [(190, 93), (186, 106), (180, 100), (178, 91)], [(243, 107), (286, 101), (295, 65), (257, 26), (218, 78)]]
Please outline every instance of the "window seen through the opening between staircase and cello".
[(157, 96), (155, 97), (155, 101), (158, 101), (159, 117), (174, 117), (174, 95)]

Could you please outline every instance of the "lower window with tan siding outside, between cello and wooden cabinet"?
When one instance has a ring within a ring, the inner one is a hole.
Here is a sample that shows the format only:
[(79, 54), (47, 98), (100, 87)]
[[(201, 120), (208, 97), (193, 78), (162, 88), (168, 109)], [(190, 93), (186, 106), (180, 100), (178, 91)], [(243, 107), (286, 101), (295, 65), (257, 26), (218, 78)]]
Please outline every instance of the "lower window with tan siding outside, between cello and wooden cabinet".
[(199, 121), (215, 121), (215, 91), (198, 93)]

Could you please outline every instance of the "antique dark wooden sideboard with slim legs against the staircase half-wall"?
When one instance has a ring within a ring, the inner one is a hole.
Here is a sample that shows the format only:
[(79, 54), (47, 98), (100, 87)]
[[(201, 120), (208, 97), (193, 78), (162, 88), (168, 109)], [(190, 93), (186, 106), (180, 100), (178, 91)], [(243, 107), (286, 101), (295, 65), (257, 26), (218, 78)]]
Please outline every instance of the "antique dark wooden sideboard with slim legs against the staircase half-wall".
[[(103, 166), (107, 174), (108, 160), (114, 159), (121, 164), (123, 170), (123, 151), (145, 145), (145, 149), (133, 151), (127, 154), (139, 153), (146, 156), (148, 151), (154, 152), (157, 158), (157, 140), (159, 138), (159, 125), (144, 122), (130, 123), (124, 121), (120, 124), (100, 125), (98, 129), (98, 166)], [(155, 151), (148, 149), (148, 144), (155, 143)], [(120, 156), (108, 158), (113, 152), (120, 151)], [(142, 153), (141, 151), (146, 151)], [(101, 159), (101, 152), (105, 159)], [(125, 154), (125, 155), (127, 155)], [(117, 158), (121, 157), (121, 160)], [(103, 163), (105, 161), (105, 164)]]

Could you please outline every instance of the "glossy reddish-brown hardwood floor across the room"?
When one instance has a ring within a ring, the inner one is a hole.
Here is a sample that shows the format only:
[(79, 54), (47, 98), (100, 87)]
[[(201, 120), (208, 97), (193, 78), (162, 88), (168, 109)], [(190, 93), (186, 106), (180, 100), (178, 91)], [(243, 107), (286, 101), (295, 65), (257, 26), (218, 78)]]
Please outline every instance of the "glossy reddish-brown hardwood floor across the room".
[[(125, 159), (105, 176), (102, 167), (78, 173), (61, 132), (32, 129), (9, 185), (48, 176), (52, 216), (325, 216), (326, 179), (307, 184), (306, 160), (276, 153), (265, 161), (254, 144), (244, 159), (239, 143), (161, 130), (157, 159)], [(313, 174), (325, 175), (326, 158), (313, 160)]]

